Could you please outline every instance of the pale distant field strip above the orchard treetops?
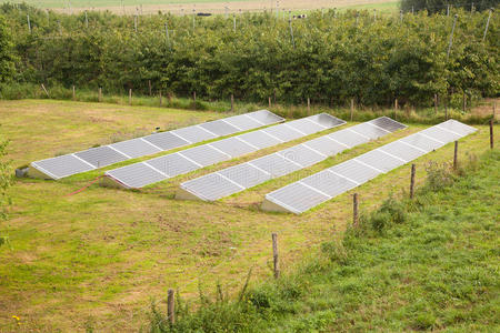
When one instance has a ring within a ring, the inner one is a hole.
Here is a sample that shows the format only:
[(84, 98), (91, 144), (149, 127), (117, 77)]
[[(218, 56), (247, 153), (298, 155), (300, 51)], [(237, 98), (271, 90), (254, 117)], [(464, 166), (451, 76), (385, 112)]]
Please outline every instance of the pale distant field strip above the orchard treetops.
[[(22, 1), (11, 1), (11, 2), (22, 2)], [(262, 10), (276, 10), (277, 1), (262, 1), (262, 0), (73, 0), (73, 1), (56, 1), (56, 0), (27, 0), (29, 4), (39, 8), (51, 8), (63, 12), (78, 12), (81, 10), (111, 10), (117, 13), (136, 13), (137, 9), (142, 6), (142, 13), (156, 12), (158, 10), (171, 11), (176, 13), (191, 13), (193, 9), (197, 11), (209, 11), (209, 12), (224, 12), (226, 7), (231, 12), (242, 11), (262, 11)], [(70, 4), (68, 4), (70, 3)], [(279, 1), (280, 10), (309, 10), (309, 9), (321, 9), (321, 8), (344, 8), (344, 7), (357, 7), (357, 8), (377, 8), (380, 10), (393, 10), (398, 6), (397, 1), (388, 0), (316, 0), (316, 1), (304, 1), (304, 0), (281, 0)]]

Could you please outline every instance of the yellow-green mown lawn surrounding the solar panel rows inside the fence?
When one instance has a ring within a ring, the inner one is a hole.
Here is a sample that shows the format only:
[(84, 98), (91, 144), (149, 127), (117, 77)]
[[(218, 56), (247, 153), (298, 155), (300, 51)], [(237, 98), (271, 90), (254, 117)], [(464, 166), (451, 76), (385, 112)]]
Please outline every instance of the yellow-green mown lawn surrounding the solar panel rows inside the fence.
[[(146, 133), (157, 125), (182, 127), (226, 117), (214, 112), (49, 100), (0, 102), (0, 137), (11, 140), (13, 165), (59, 152), (107, 143), (113, 138)], [(350, 125), (350, 124), (349, 124)], [(241, 286), (248, 270), (254, 279), (271, 275), (270, 234), (278, 232), (283, 269), (317, 251), (322, 241), (342, 235), (351, 216), (350, 193), (303, 215), (268, 214), (263, 195), (298, 176), (348, 160), (380, 144), (424, 128), (410, 125), (376, 142), (354, 148), (308, 170), (261, 184), (217, 203), (171, 200), (178, 184), (288, 144), (223, 162), (142, 191), (104, 189), (99, 184), (68, 196), (100, 172), (60, 182), (19, 180), (12, 189), (11, 218), (0, 224), (10, 243), (0, 249), (0, 331), (134, 331), (147, 323), (151, 299), (164, 306), (168, 287), (186, 297), (198, 285), (226, 290)], [(488, 149), (488, 129), (460, 143), (460, 159)], [(321, 134), (324, 134), (321, 133)], [(428, 161), (449, 161), (449, 144), (417, 161), (418, 183)], [(409, 167), (360, 186), (362, 208), (380, 204), (407, 188)], [(4, 323), (4, 324), (3, 324)], [(3, 326), (1, 326), (3, 325)]]

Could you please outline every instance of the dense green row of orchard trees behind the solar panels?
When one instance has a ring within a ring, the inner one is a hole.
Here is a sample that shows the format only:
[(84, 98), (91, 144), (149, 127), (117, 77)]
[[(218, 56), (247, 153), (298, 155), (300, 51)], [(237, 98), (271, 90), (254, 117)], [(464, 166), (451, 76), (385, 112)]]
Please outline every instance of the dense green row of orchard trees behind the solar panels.
[[(457, 10), (459, 20), (449, 59), (452, 16), (427, 12), (373, 16), (369, 11), (244, 13), (197, 18), (159, 13), (133, 17), (110, 12), (78, 16), (3, 4), (16, 30), (17, 80), (67, 88), (136, 93), (159, 89), (179, 95), (282, 102), (364, 105), (429, 105), (434, 93), (473, 97), (499, 91), (498, 16)], [(32, 32), (27, 27), (30, 13)], [(454, 13), (454, 12), (453, 12)], [(193, 28), (193, 20), (196, 27)], [(164, 24), (168, 24), (169, 34)], [(290, 26), (293, 31), (291, 40)]]

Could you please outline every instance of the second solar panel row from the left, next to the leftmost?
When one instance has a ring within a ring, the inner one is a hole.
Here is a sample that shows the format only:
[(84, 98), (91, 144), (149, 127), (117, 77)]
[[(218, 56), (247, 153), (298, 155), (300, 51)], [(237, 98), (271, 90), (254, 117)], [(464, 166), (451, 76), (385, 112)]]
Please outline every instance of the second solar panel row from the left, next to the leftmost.
[[(267, 147), (307, 137), (319, 131), (332, 129), (344, 123), (343, 120), (326, 113), (316, 114), (259, 131), (198, 145), (141, 163), (114, 169), (106, 172), (106, 175), (124, 188), (143, 188), (179, 174), (238, 158)], [(234, 184), (230, 183), (229, 185)]]

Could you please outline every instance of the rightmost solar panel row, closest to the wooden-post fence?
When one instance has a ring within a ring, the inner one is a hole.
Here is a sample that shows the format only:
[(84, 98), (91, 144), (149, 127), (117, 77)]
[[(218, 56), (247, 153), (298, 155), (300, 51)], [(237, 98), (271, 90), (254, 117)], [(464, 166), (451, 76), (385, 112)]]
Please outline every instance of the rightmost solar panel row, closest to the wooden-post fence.
[(262, 209), (303, 213), (474, 131), (474, 128), (448, 120), (276, 190), (266, 195)]

